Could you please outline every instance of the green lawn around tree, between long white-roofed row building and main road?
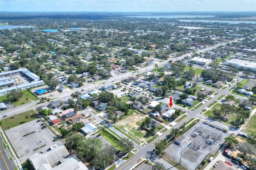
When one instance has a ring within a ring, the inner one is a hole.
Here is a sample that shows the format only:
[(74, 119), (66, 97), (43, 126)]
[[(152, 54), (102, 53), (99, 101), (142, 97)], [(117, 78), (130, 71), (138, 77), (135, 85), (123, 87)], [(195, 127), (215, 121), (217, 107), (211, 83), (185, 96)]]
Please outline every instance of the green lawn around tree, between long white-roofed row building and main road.
[[(29, 103), (30, 100), (33, 100), (33, 101), (38, 100), (38, 98), (28, 90), (24, 90), (24, 91), (22, 91), (22, 93), (23, 93), (22, 97), (18, 101), (14, 102), (15, 107), (20, 106), (25, 103)], [(28, 98), (28, 101), (26, 101), (26, 98)], [(8, 102), (8, 101), (6, 101), (6, 95), (0, 97), (0, 103), (1, 102)]]

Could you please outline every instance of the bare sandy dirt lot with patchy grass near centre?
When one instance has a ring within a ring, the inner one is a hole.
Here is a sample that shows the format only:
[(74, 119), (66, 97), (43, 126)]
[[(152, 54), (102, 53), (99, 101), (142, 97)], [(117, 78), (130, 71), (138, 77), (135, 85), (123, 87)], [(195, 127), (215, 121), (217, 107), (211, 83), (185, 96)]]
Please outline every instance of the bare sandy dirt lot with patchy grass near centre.
[(144, 138), (146, 131), (140, 130), (140, 126), (137, 123), (144, 120), (141, 118), (142, 116), (140, 114), (130, 115), (128, 117), (124, 117), (121, 121), (118, 121), (116, 123), (116, 126), (125, 130), (128, 134), (130, 134), (140, 142), (144, 142), (146, 140), (146, 138)]

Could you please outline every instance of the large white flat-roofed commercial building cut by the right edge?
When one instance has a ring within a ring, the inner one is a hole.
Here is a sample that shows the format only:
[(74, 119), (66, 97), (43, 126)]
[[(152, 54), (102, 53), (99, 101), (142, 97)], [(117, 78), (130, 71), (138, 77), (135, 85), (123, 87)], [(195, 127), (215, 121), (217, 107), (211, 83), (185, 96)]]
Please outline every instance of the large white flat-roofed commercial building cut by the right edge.
[(252, 71), (256, 71), (256, 62), (244, 61), (241, 59), (230, 59), (226, 61), (226, 65), (228, 64), (232, 64), (236, 66), (236, 68), (238, 69), (244, 69), (244, 70), (251, 69)]

